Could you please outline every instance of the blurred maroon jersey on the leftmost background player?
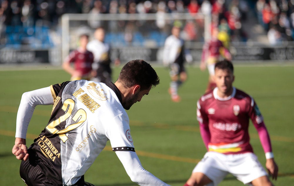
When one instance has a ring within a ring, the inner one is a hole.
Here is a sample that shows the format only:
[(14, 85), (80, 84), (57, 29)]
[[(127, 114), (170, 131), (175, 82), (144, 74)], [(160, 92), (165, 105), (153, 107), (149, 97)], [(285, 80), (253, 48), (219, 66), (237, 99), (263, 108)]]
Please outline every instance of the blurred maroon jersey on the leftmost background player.
[(74, 50), (69, 54), (66, 61), (73, 62), (74, 68), (80, 71), (83, 76), (88, 74), (92, 70), (94, 56), (93, 53), (88, 50), (86, 52)]

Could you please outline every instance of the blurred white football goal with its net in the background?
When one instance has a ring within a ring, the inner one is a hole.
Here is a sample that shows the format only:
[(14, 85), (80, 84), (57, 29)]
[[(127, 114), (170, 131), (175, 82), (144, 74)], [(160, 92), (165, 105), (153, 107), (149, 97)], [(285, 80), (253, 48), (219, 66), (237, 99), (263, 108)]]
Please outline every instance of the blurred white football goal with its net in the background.
[[(160, 53), (174, 22), (182, 25), (181, 36), (188, 49), (203, 45), (210, 38), (211, 16), (201, 13), (64, 14), (61, 17), (61, 57), (64, 60), (77, 47), (79, 34), (87, 32), (91, 40), (95, 28), (103, 27), (106, 30), (106, 42), (118, 53), (126, 52), (127, 48), (141, 49), (140, 51), (153, 49), (156, 52), (152, 55), (156, 57), (149, 61), (160, 61), (158, 52)], [(150, 51), (145, 52), (145, 56), (150, 55)]]

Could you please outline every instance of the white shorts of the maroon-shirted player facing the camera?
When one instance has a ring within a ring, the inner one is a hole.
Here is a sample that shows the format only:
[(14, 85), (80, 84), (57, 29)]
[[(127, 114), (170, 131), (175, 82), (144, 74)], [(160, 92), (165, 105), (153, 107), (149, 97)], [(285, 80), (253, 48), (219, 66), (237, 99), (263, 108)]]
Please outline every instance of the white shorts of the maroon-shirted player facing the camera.
[(268, 175), (257, 156), (251, 152), (227, 155), (218, 152), (206, 152), (193, 172), (205, 174), (213, 181), (213, 185), (218, 185), (229, 173), (244, 184), (249, 184), (259, 177)]

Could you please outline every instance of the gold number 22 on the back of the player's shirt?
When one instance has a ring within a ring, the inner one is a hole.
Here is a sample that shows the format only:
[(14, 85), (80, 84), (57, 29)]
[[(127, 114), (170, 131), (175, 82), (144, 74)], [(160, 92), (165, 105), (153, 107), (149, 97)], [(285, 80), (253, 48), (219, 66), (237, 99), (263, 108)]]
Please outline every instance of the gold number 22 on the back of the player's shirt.
[(46, 126), (46, 129), (51, 132), (52, 134), (58, 134), (60, 139), (63, 142), (66, 142), (68, 139), (67, 136), (65, 135), (66, 132), (69, 132), (71, 130), (76, 129), (79, 127), (81, 124), (83, 124), (84, 121), (87, 119), (87, 113), (83, 109), (78, 109), (78, 111), (74, 114), (72, 117), (72, 120), (74, 120), (76, 123), (71, 124), (67, 126), (65, 129), (58, 130), (55, 127), (61, 122), (65, 121), (67, 118), (69, 118), (73, 112), (75, 102), (72, 99), (67, 99), (64, 101), (62, 110), (65, 111), (64, 115), (60, 116), (58, 119), (52, 121), (50, 124)]

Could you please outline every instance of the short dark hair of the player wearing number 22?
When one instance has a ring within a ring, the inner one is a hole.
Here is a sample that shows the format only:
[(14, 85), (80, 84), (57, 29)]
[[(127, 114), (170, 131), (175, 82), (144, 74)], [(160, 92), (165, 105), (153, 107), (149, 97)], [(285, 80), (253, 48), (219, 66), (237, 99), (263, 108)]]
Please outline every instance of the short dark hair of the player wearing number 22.
[(141, 90), (153, 88), (159, 84), (159, 77), (149, 63), (144, 60), (131, 60), (123, 66), (118, 82), (124, 87), (140, 85)]

